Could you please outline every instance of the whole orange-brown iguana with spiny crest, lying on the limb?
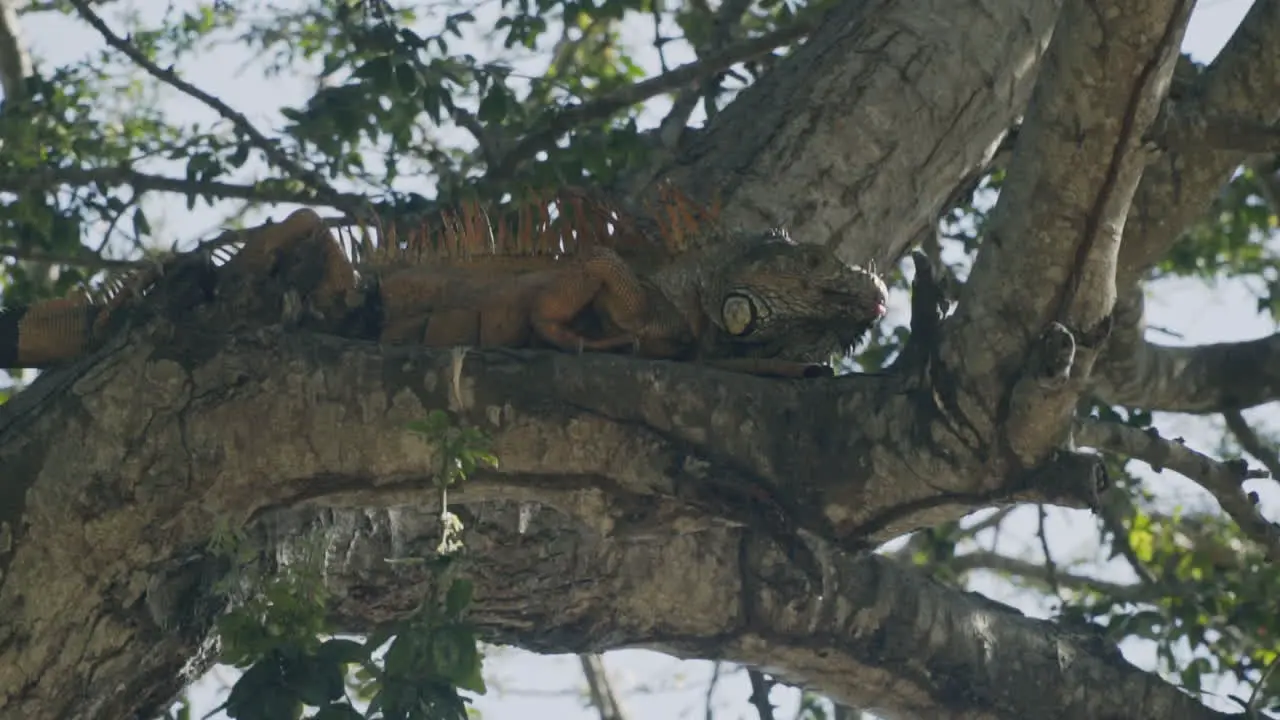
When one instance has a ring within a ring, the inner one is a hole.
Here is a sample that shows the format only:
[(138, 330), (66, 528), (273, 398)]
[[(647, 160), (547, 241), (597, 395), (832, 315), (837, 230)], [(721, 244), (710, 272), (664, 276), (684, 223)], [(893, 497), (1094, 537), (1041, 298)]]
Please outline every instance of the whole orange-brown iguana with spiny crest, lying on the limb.
[[(428, 231), (367, 232), (351, 249), (312, 210), (244, 231), (219, 274), (319, 269), (306, 305), (342, 334), (384, 343), (549, 346), (692, 359), (748, 373), (815, 374), (884, 314), (874, 273), (785, 233), (730, 233), (668, 192), (657, 233), (580, 193), (524, 205), (512, 229), (465, 205)], [(724, 232), (689, 250), (691, 233)], [(358, 272), (357, 272), (358, 269)], [(148, 269), (125, 287), (155, 282)], [(46, 368), (101, 340), (128, 292), (0, 311), (0, 366)]]

